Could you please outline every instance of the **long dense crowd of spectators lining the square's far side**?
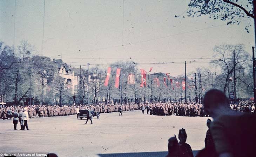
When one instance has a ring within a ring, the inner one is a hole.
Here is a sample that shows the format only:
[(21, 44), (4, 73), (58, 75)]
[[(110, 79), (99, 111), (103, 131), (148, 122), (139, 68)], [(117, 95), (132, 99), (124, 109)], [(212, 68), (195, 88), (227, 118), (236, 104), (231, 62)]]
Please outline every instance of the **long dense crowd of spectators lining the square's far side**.
[[(252, 102), (239, 102), (238, 104), (230, 104), (230, 108), (237, 112), (254, 113), (255, 106)], [(188, 117), (208, 117), (204, 112), (203, 105), (198, 103), (127, 103), (127, 104), (98, 104), (98, 105), (31, 105), (26, 106), (28, 109), (28, 117), (53, 117), (78, 114), (79, 110), (92, 109), (99, 113), (120, 112), (144, 110), (150, 115), (176, 115)], [(9, 106), (0, 107), (0, 119), (12, 119), (15, 110), (23, 111), (25, 106)], [(79, 109), (79, 110), (78, 110)]]

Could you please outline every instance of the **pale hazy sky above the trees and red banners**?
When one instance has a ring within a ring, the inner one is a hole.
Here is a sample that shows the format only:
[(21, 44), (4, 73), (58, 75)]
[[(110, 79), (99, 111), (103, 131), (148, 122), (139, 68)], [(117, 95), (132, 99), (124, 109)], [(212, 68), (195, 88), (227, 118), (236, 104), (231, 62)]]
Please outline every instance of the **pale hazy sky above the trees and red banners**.
[(215, 45), (244, 44), (251, 54), (255, 37), (253, 27), (250, 33), (244, 29), (248, 18), (239, 25), (227, 25), (227, 21), (208, 16), (187, 17), (188, 3), (1, 0), (0, 40), (10, 46), (28, 40), (35, 46), (34, 54), (61, 58), (71, 67), (87, 68), (83, 65), (89, 62), (107, 69), (115, 61), (133, 60), (139, 63), (138, 68), (148, 71), (153, 67), (151, 73), (171, 76), (184, 74), (185, 61), (187, 73), (198, 67), (213, 68), (208, 62)]

